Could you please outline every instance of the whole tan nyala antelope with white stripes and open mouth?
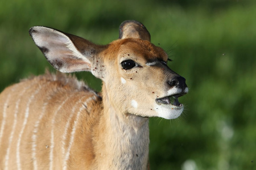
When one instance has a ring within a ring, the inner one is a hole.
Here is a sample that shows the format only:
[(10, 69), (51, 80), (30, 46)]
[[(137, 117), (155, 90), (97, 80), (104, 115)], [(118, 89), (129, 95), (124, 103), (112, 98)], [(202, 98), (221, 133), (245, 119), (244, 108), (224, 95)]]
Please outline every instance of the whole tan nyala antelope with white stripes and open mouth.
[(178, 97), (188, 87), (146, 27), (127, 20), (108, 45), (47, 27), (29, 33), (55, 69), (90, 71), (102, 92), (62, 73), (7, 87), (0, 95), (0, 169), (147, 169), (148, 118), (179, 117)]

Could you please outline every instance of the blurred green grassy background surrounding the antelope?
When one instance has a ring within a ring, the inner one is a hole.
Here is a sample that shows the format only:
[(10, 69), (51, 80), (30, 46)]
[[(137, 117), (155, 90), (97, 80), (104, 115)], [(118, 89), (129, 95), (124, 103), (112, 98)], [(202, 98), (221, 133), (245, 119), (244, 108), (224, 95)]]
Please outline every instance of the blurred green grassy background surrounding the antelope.
[[(0, 1), (0, 91), (52, 67), (28, 29), (45, 25), (96, 44), (142, 22), (187, 79), (176, 120), (150, 119), (151, 169), (256, 169), (256, 1)], [(90, 87), (101, 81), (77, 73)]]

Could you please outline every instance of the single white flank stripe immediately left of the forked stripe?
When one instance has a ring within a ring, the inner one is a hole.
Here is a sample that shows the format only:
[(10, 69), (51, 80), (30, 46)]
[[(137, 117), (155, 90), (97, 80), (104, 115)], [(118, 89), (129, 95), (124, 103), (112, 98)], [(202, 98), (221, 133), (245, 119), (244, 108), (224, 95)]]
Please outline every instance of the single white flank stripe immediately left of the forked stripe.
[(61, 107), (63, 107), (63, 105), (67, 102), (67, 100), (70, 98), (67, 97), (67, 99), (65, 99), (63, 101), (63, 103), (60, 104), (60, 106), (57, 108), (57, 111), (54, 113), (53, 118), (52, 118), (52, 130), (51, 130), (51, 146), (50, 146), (50, 154), (49, 154), (49, 169), (53, 169), (53, 148), (54, 148), (54, 124), (55, 124), (55, 117), (57, 115), (57, 113), (60, 111)]

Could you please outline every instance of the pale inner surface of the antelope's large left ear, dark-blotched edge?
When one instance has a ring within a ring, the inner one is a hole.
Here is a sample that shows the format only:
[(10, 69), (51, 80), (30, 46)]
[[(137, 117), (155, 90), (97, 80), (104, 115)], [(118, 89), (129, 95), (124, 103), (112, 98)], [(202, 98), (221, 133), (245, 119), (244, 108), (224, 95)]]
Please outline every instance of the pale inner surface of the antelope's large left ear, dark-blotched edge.
[[(47, 27), (33, 27), (32, 37), (48, 61), (61, 72), (90, 71), (90, 61), (84, 56), (71, 39), (62, 32)], [(89, 51), (92, 49), (88, 49)]]

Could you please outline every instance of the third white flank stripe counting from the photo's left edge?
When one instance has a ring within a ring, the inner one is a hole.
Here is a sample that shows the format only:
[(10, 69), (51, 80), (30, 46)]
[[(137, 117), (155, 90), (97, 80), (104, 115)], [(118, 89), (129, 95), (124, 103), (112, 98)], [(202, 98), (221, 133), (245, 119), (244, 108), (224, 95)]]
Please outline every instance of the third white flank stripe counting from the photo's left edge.
[(20, 130), (20, 133), (19, 133), (19, 138), (18, 138), (17, 147), (16, 147), (16, 159), (17, 159), (16, 161), (17, 161), (18, 169), (21, 169), (19, 147), (20, 147), (20, 142), (21, 142), (21, 138), (22, 138), (24, 129), (27, 125), (28, 116), (30, 114), (30, 104), (31, 104), (31, 101), (34, 99), (35, 95), (37, 95), (38, 92), (41, 90), (41, 88), (42, 88), (42, 86), (40, 86), (40, 88), (38, 88), (38, 90), (35, 91), (35, 93), (30, 97), (30, 99), (28, 99), (28, 102), (27, 102), (27, 108), (25, 111), (24, 121), (22, 124), (22, 128)]

